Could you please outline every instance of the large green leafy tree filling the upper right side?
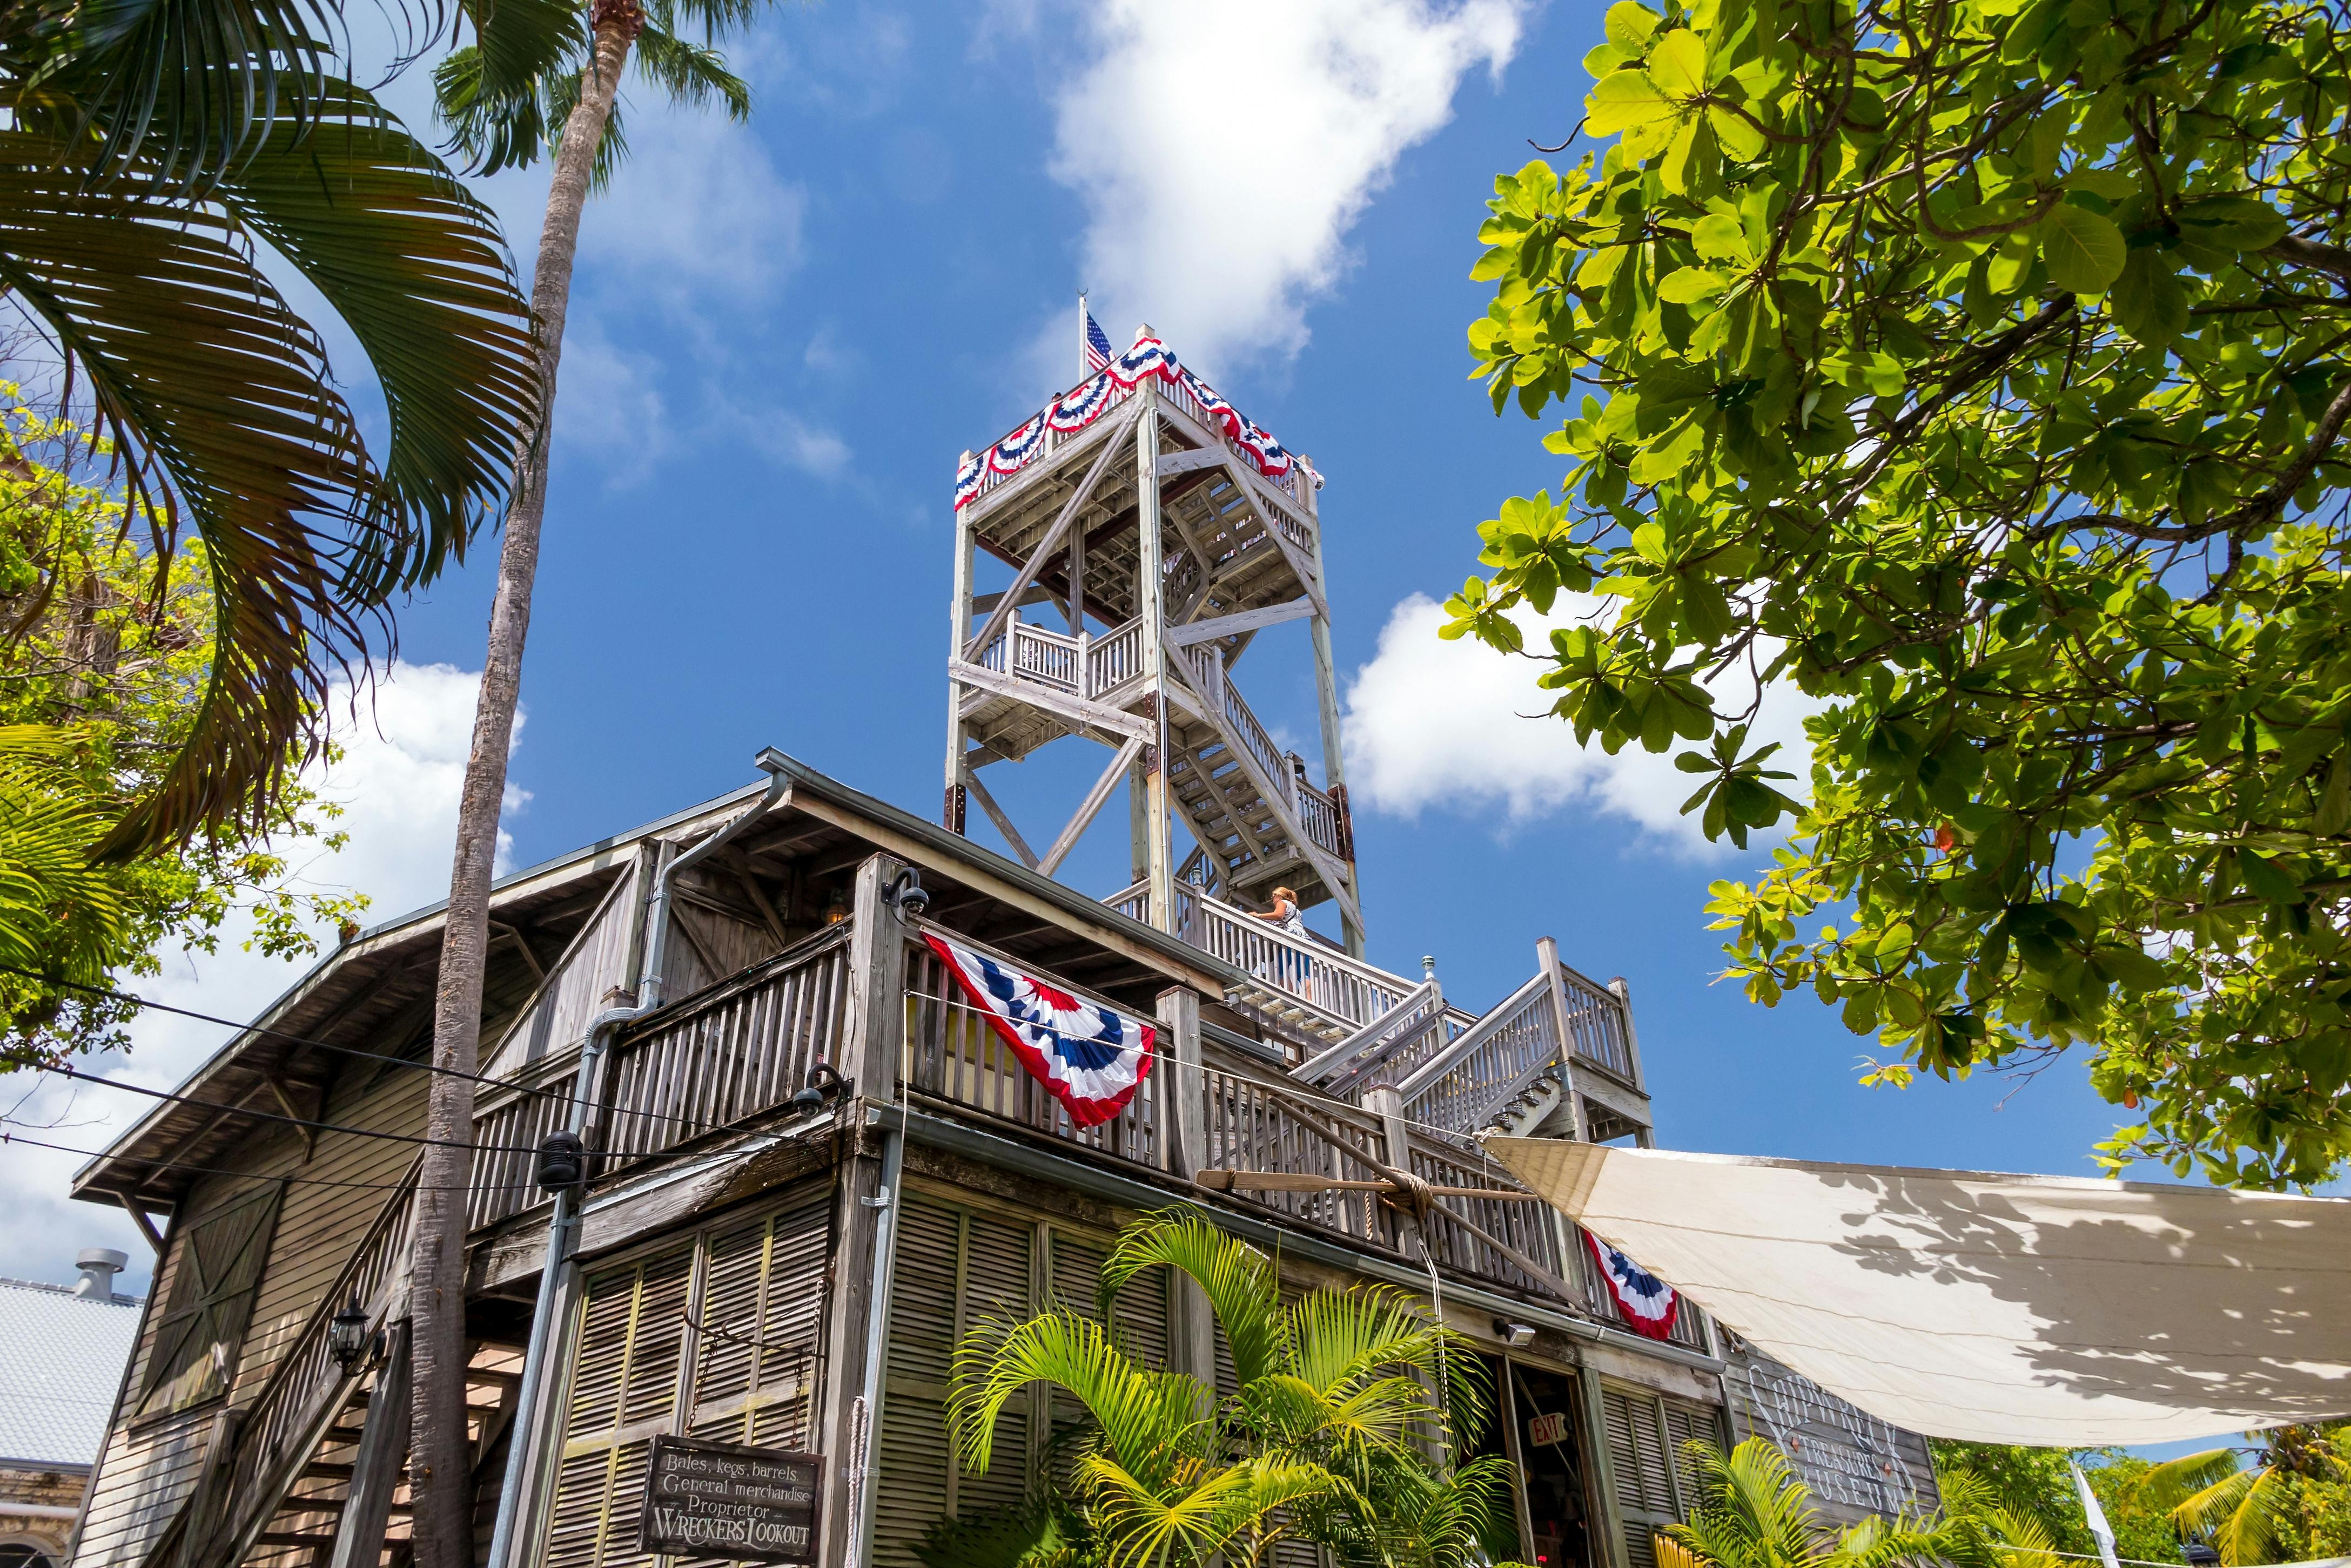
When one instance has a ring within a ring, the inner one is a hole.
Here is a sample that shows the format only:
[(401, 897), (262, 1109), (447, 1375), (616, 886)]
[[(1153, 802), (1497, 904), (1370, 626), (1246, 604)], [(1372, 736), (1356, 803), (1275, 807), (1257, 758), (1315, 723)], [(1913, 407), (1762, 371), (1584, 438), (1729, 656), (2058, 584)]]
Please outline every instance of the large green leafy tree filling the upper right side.
[[(1469, 327), (1568, 470), (1446, 635), (1542, 661), (1582, 741), (1688, 743), (1709, 835), (1791, 827), (1709, 910), (1876, 1081), (2081, 1046), (2139, 1112), (2114, 1164), (2327, 1178), (2344, 7), (1625, 0), (1585, 66), (1613, 141), (1495, 181)], [(1599, 609), (1528, 649), (1561, 592)], [(1820, 703), (1808, 804), (1714, 696), (1749, 679)]]

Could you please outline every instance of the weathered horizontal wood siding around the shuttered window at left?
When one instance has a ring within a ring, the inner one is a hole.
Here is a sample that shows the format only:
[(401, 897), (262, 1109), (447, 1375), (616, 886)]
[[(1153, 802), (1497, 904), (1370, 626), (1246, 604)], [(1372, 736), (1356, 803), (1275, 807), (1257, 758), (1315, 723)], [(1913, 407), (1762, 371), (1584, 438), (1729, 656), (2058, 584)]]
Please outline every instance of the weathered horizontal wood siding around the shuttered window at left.
[[(407, 1065), (346, 1058), (320, 1119), (369, 1131), (421, 1131), (426, 1077)], [(172, 1215), (169, 1248), (155, 1269), (158, 1302), (169, 1300), (186, 1232), (195, 1220), (249, 1192), (259, 1180), (289, 1178), (254, 1312), (230, 1371), (228, 1406), (245, 1406), (259, 1396), (277, 1368), (277, 1356), (301, 1333), (376, 1211), (393, 1197), (390, 1185), (414, 1157), (411, 1143), (360, 1133), (320, 1133), (317, 1147), (310, 1150), (299, 1128), (261, 1124), (261, 1131), (221, 1161), (240, 1175), (207, 1175), (188, 1192), (183, 1211)], [(92, 1479), (75, 1568), (134, 1568), (146, 1559), (195, 1488), (216, 1427), (214, 1418), (223, 1408), (216, 1399), (179, 1415), (132, 1420), (146, 1392), (158, 1319), (160, 1307), (150, 1307), (132, 1354), (125, 1406), (115, 1410)]]

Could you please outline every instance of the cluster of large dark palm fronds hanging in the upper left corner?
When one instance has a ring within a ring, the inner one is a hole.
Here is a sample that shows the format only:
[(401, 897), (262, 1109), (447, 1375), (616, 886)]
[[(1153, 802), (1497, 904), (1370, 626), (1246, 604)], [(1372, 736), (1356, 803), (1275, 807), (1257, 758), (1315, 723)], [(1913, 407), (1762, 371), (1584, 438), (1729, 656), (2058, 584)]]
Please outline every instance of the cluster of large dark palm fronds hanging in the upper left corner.
[[(524, 68), (555, 0), (428, 0)], [(259, 830), (317, 745), (327, 679), (508, 496), (541, 404), (496, 221), (364, 87), (341, 0), (0, 7), (0, 294), (113, 440), (167, 571), (207, 545), (219, 656), (193, 733), (101, 844)], [(390, 414), (371, 447), (320, 334), (259, 256), (343, 317)]]

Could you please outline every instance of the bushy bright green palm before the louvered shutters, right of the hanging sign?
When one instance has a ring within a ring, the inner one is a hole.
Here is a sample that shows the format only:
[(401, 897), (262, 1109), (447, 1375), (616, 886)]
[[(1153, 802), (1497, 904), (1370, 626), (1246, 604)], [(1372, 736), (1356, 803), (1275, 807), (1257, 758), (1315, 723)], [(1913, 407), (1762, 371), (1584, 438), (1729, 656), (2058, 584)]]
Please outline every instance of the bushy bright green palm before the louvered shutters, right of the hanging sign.
[[(1138, 1363), (1107, 1326), (1119, 1291), (1161, 1267), (1208, 1300), (1232, 1352), (1232, 1394)], [(1091, 1415), (1072, 1490), (1084, 1559), (1105, 1568), (1260, 1563), (1284, 1535), (1331, 1544), (1347, 1563), (1460, 1568), (1507, 1486), (1498, 1460), (1446, 1472), (1427, 1458), (1486, 1406), (1481, 1363), (1453, 1333), (1382, 1286), (1284, 1305), (1272, 1260), (1192, 1211), (1119, 1234), (1098, 1316), (992, 1319), (964, 1338), (950, 1420), (966, 1469), (987, 1469), (997, 1418), (1032, 1382), (1067, 1389)], [(1002, 1537), (1034, 1554), (1058, 1514), (1027, 1514), (1032, 1528)]]

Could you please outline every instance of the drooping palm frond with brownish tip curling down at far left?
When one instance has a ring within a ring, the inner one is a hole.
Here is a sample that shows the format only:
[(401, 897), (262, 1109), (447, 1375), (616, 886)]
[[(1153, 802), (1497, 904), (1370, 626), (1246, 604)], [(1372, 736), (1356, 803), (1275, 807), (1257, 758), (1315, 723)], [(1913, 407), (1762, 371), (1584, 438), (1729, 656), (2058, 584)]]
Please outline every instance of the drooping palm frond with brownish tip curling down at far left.
[(153, 186), (89, 188), (54, 141), (26, 132), (0, 132), (0, 284), (143, 463), (139, 498), (193, 520), (212, 559), (202, 708), (103, 849), (132, 856), (202, 825), (259, 823), (324, 705), (327, 661), (362, 644), (339, 585), (376, 480), (327, 353), (223, 209)]

